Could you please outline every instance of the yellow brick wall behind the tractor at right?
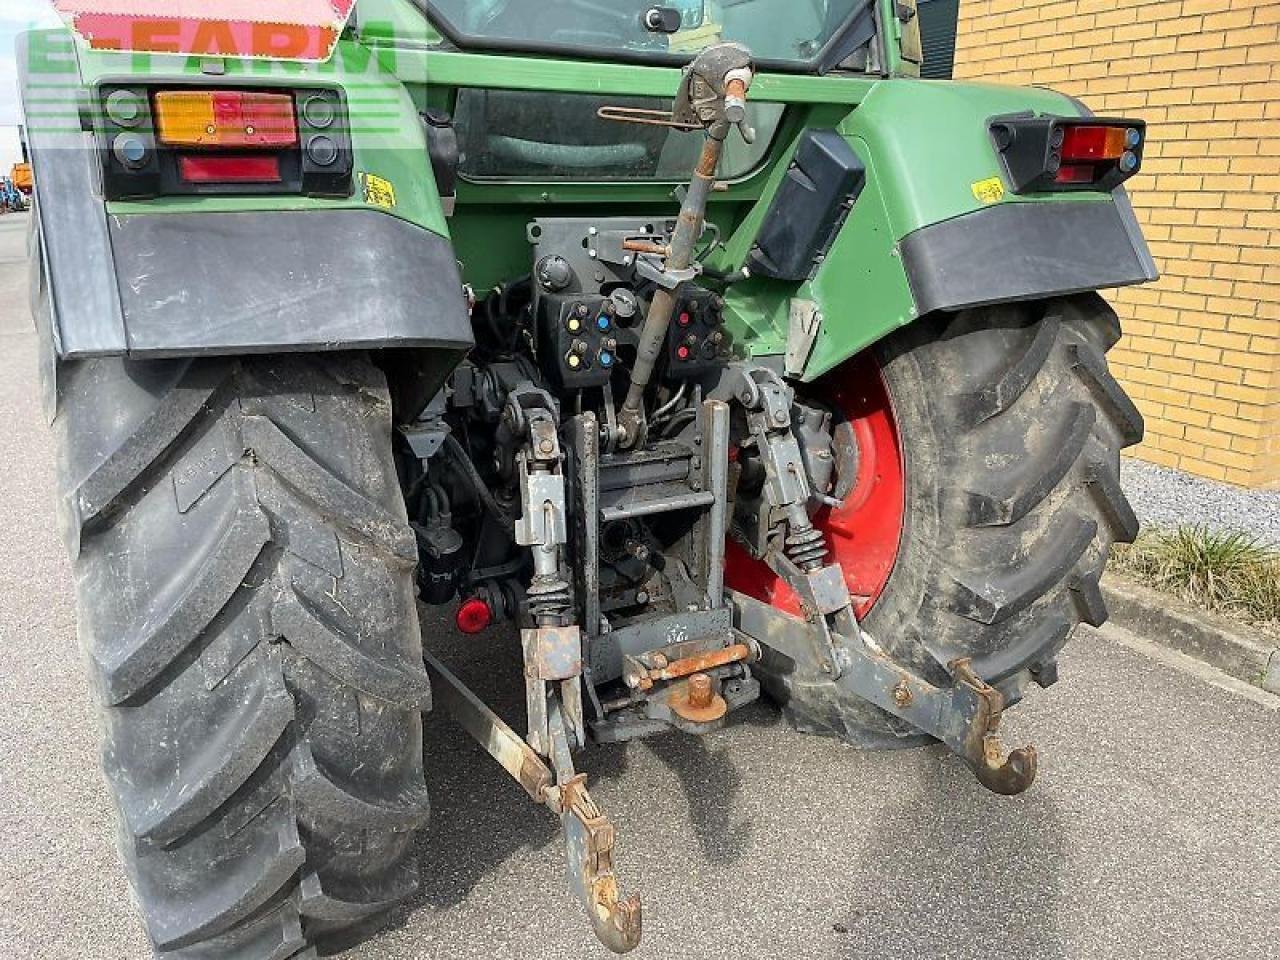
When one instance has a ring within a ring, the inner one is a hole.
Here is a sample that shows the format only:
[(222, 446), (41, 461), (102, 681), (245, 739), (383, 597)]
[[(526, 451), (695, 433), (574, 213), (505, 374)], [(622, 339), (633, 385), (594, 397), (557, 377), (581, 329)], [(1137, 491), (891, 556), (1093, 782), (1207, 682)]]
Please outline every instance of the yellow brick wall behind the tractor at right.
[(961, 0), (955, 76), (1148, 122), (1130, 193), (1162, 279), (1111, 296), (1137, 456), (1280, 484), (1280, 0)]

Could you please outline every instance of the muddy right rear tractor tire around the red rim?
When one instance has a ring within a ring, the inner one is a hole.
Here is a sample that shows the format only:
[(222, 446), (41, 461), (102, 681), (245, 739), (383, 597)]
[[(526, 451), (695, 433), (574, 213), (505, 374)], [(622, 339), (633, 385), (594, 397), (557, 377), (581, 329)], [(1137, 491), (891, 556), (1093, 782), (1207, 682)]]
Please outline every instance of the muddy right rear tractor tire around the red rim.
[[(863, 627), (936, 682), (968, 657), (1016, 700), (1057, 680), (1079, 623), (1106, 621), (1098, 581), (1112, 544), (1138, 532), (1120, 451), (1143, 435), (1107, 371), (1119, 338), (1115, 312), (1087, 294), (928, 317), (877, 347), (905, 511)], [(764, 672), (804, 730), (872, 748), (920, 742), (832, 684)]]

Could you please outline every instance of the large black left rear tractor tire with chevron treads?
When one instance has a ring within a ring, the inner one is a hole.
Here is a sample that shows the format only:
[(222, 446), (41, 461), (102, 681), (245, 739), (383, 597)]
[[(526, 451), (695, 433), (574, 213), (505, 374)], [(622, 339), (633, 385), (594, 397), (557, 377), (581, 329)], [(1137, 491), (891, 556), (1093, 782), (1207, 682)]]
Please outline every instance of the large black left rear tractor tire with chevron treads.
[(156, 955), (314, 956), (413, 893), (428, 814), (385, 378), (97, 360), (59, 392), (79, 632)]

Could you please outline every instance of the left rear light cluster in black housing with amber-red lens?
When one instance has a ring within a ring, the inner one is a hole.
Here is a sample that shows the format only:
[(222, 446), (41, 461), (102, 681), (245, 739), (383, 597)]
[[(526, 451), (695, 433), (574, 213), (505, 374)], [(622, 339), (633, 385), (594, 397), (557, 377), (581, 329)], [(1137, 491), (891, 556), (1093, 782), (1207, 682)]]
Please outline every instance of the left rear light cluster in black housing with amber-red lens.
[(351, 196), (340, 91), (105, 87), (100, 96), (95, 129), (108, 200)]

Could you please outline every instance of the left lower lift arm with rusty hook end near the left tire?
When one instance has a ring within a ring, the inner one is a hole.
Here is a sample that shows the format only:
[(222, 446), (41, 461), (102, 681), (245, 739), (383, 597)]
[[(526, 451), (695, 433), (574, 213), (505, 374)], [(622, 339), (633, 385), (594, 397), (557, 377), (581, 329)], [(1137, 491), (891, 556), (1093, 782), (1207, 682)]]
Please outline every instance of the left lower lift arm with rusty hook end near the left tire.
[[(422, 654), (435, 704), (447, 709), (471, 737), (493, 756), (525, 792), (561, 819), (570, 884), (586, 909), (591, 929), (614, 954), (640, 945), (643, 909), (636, 895), (622, 896), (614, 873), (617, 832), (586, 790), (586, 774), (572, 772), (566, 750), (553, 750), (556, 774), (521, 736), (489, 709), (448, 667), (430, 653)], [(564, 718), (558, 704), (550, 713), (553, 740), (564, 739)]]

